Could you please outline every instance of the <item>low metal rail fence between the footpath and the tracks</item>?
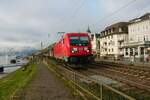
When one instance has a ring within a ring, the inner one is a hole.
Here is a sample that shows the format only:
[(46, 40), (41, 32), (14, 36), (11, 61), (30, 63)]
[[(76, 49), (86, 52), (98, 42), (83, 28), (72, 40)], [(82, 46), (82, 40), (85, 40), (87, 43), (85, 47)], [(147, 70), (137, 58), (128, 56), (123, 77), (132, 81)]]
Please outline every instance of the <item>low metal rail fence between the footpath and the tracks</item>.
[[(45, 62), (46, 65), (47, 62)], [(56, 66), (50, 62), (48, 68), (60, 77), (63, 77), (74, 85), (76, 91), (82, 91), (82, 95), (88, 100), (135, 100), (134, 98), (106, 85), (96, 79), (89, 78), (66, 68)]]

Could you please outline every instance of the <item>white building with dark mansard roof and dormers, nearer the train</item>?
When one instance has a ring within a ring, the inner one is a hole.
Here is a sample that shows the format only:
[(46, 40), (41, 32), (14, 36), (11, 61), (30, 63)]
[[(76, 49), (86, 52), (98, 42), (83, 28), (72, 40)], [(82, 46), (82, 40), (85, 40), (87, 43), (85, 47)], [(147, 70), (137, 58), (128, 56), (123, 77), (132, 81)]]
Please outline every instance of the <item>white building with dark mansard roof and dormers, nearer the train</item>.
[(123, 46), (127, 40), (127, 22), (119, 22), (106, 27), (100, 34), (100, 54), (103, 57), (118, 59), (123, 57)]

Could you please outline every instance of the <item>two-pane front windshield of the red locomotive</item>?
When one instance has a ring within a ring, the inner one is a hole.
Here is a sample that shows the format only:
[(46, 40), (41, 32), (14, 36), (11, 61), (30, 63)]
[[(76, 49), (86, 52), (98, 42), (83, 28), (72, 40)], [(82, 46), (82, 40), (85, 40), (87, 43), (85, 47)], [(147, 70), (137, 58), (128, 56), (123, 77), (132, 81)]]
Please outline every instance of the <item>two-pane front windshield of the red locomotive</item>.
[(89, 43), (88, 36), (70, 36), (70, 45), (87, 46)]

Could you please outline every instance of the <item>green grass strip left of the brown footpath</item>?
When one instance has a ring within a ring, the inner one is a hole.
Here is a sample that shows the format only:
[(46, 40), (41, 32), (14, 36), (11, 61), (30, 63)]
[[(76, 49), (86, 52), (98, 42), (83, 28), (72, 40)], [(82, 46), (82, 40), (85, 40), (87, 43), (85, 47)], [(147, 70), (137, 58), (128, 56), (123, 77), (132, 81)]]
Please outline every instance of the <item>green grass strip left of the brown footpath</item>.
[(25, 87), (36, 72), (35, 64), (30, 63), (0, 79), (0, 100), (10, 100), (15, 93)]

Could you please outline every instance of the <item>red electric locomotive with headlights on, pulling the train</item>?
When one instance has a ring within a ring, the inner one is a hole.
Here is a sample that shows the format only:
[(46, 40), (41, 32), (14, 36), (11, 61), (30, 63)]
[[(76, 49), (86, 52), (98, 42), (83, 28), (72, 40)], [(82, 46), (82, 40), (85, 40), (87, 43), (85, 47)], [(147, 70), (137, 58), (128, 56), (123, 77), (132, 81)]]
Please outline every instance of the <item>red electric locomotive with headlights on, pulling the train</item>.
[(89, 62), (92, 59), (88, 33), (66, 33), (53, 46), (53, 56), (65, 62)]

